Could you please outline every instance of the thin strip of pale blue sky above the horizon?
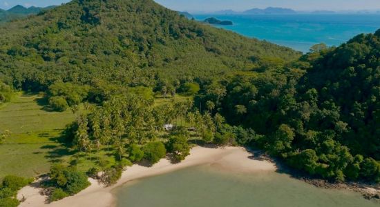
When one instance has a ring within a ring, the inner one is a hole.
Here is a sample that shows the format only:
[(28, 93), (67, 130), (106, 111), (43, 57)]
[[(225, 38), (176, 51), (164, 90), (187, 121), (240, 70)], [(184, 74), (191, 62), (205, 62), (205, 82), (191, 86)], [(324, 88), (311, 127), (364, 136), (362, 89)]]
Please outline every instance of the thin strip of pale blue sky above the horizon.
[[(155, 0), (173, 10), (216, 11), (247, 10), (268, 6), (295, 10), (380, 10), (380, 0)], [(0, 0), (0, 8), (8, 9), (17, 4), (29, 6), (59, 5), (68, 0)]]

